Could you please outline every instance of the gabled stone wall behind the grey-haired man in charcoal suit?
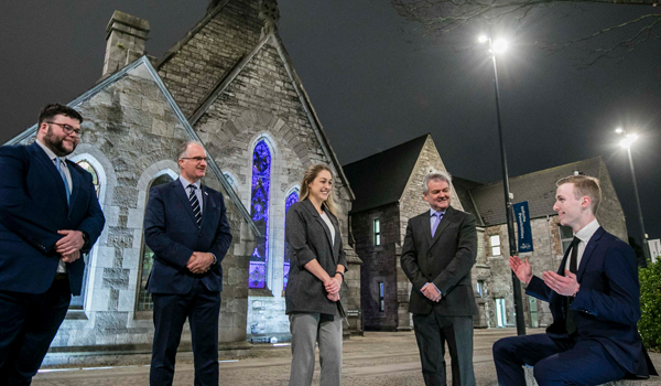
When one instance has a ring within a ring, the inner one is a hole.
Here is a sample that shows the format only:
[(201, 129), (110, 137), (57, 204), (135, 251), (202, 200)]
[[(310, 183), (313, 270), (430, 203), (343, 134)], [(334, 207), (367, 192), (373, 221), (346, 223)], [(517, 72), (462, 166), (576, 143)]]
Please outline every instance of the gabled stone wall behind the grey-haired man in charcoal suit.
[[(411, 330), (413, 323), (409, 313), (411, 282), (401, 269), (401, 246), (404, 242), (410, 218), (429, 211), (423, 200), (423, 180), (431, 171), (446, 171), (431, 136), (425, 140), (420, 156), (404, 187), (399, 203), (351, 214), (351, 232), (356, 240), (356, 251), (362, 259), (361, 301), (366, 329)], [(452, 191), (453, 207), (463, 210), (456, 192)], [(382, 246), (373, 245), (373, 218), (381, 219)], [(483, 229), (479, 229), (481, 235)], [(473, 268), (474, 285), (477, 280), (488, 280), (490, 267), (484, 258), (481, 236), (478, 238), (478, 256), (481, 260)], [(379, 310), (378, 282), (386, 283), (386, 310)], [(397, 287), (392, 287), (395, 283)], [(487, 326), (488, 303), (476, 292), (480, 315), (475, 318), (476, 326)]]

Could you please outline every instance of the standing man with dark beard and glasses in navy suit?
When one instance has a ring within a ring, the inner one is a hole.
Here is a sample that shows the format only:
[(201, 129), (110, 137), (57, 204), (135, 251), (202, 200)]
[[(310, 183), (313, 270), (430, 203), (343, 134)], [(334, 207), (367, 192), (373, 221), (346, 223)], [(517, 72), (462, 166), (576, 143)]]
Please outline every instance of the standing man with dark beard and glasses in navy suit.
[(34, 143), (0, 148), (0, 385), (30, 385), (104, 228), (91, 175), (66, 159), (82, 121), (47, 105)]

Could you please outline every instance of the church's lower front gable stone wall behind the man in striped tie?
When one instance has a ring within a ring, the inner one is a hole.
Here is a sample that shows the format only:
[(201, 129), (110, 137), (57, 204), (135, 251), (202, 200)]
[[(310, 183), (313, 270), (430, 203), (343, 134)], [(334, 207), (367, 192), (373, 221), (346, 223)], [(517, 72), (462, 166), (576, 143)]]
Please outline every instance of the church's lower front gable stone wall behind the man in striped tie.
[[(176, 178), (176, 149), (192, 138), (147, 63), (108, 82), (74, 105), (85, 117), (85, 136), (72, 159), (87, 160), (96, 169), (106, 227), (87, 258), (83, 307), (69, 310), (53, 341), (51, 351), (55, 353), (149, 350), (153, 339), (151, 312), (136, 310), (144, 286), (141, 269), (148, 187), (161, 174)], [(251, 249), (252, 234), (210, 170), (203, 182), (225, 194), (234, 237), (223, 261), (226, 285), (219, 341), (241, 342), (246, 339), (248, 293), (247, 282), (238, 278), (248, 275), (245, 251)], [(186, 342), (187, 328), (184, 346), (189, 344)], [(59, 356), (57, 361), (68, 360)]]

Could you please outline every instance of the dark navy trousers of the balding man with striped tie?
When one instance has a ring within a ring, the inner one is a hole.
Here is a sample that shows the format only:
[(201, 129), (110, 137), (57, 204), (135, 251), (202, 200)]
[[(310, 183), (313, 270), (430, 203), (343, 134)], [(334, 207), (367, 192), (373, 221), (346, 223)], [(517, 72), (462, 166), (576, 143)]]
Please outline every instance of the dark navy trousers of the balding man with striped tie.
[(186, 294), (152, 293), (154, 301), (154, 344), (150, 385), (172, 385), (176, 349), (188, 318), (193, 341), (195, 386), (218, 385), (218, 315), (220, 292), (208, 291), (196, 279)]

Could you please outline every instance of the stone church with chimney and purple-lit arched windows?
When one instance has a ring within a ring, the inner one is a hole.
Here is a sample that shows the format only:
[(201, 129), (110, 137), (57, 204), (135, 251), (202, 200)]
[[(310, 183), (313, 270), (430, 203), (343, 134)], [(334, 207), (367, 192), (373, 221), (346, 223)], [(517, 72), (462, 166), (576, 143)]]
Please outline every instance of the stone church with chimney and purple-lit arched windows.
[[(335, 174), (335, 200), (349, 262), (342, 297), (360, 328), (360, 259), (348, 243), (355, 199), (278, 33), (273, 0), (212, 0), (205, 17), (163, 57), (147, 56), (149, 22), (116, 11), (96, 86), (71, 101), (85, 117), (72, 160), (94, 175), (107, 223), (86, 256), (76, 297), (44, 364), (112, 362), (148, 354), (153, 339), (144, 286), (152, 253), (143, 240), (149, 190), (177, 178), (176, 149), (201, 141), (204, 183), (225, 195), (234, 236), (223, 261), (219, 340), (240, 355), (247, 341), (289, 335), (284, 216), (307, 167)], [(99, 68), (100, 68), (99, 63)], [(30, 143), (36, 126), (8, 142)], [(189, 349), (189, 332), (182, 339)]]

